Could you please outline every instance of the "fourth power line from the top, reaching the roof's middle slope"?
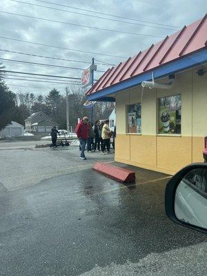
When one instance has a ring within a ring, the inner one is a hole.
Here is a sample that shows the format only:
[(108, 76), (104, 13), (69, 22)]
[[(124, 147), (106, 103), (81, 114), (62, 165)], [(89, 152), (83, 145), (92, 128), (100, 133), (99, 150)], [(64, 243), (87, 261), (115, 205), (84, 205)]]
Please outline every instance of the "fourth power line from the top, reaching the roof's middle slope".
[(115, 56), (115, 55), (107, 55), (107, 54), (102, 54), (100, 52), (88, 52), (88, 51), (82, 51), (82, 50), (75, 50), (75, 49), (71, 49), (71, 48), (65, 48), (65, 47), (59, 47), (59, 46), (54, 46), (54, 45), (48, 45), (48, 44), (43, 44), (43, 43), (39, 43), (39, 42), (32, 42), (32, 41), (26, 41), (26, 40), (21, 40), (21, 39), (13, 39), (10, 37), (3, 37), (0, 35), (1, 39), (8, 39), (8, 40), (12, 40), (12, 41), (19, 41), (19, 42), (24, 42), (24, 43), (30, 43), (30, 44), (34, 44), (34, 45), (39, 45), (39, 46), (46, 46), (46, 47), (50, 47), (50, 48), (57, 48), (57, 49), (62, 49), (62, 50), (69, 50), (72, 52), (83, 52), (86, 54), (91, 54), (91, 55), (100, 55), (100, 56), (106, 56), (106, 57), (118, 57), (121, 59), (127, 59), (127, 57), (121, 57), (121, 56)]

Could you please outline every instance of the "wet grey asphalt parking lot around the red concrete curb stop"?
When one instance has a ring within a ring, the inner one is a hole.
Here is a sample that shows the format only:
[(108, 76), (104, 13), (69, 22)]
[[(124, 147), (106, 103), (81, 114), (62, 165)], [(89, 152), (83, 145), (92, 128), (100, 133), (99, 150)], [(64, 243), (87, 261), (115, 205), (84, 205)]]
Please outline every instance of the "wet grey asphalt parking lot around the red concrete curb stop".
[(168, 175), (127, 186), (92, 170), (113, 155), (78, 155), (1, 142), (0, 275), (207, 275), (207, 236), (164, 213)]

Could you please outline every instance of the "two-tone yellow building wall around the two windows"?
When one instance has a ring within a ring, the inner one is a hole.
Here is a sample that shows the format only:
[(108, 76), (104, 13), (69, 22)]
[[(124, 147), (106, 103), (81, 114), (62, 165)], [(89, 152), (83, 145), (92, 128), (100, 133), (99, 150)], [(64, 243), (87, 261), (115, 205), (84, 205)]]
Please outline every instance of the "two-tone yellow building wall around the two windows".
[[(116, 95), (117, 139), (115, 161), (174, 175), (184, 166), (203, 161), (207, 136), (207, 76), (197, 69), (175, 76), (169, 90), (144, 89), (141, 135), (128, 133), (127, 105), (141, 101), (141, 87)], [(168, 82), (168, 79), (160, 79)], [(157, 133), (158, 99), (181, 94), (181, 135)]]

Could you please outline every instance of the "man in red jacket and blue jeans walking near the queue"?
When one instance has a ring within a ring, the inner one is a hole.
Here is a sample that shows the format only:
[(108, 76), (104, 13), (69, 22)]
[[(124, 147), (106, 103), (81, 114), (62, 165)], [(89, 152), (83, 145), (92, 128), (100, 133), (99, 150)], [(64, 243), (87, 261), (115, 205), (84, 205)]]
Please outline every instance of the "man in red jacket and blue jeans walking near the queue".
[(81, 119), (81, 121), (77, 125), (75, 132), (77, 134), (77, 137), (79, 139), (80, 146), (81, 146), (80, 158), (82, 160), (86, 160), (85, 150), (86, 150), (86, 142), (88, 139), (88, 117), (83, 117), (83, 119)]

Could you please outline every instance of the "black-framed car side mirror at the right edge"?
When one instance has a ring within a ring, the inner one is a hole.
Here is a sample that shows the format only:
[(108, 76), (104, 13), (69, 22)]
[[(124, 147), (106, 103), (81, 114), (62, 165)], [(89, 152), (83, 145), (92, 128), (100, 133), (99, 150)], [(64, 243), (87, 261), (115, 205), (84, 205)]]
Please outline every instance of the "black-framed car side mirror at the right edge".
[(170, 179), (165, 207), (172, 221), (207, 233), (207, 164), (191, 164)]

